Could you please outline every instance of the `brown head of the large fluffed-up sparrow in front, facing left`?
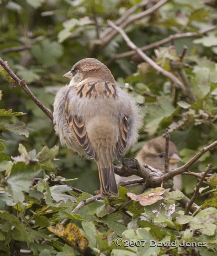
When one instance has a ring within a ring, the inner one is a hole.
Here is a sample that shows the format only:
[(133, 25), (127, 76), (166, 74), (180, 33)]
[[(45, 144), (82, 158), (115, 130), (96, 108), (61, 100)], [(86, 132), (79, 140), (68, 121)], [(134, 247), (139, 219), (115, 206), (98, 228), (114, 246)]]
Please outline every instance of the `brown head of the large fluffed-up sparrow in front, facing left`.
[(108, 67), (94, 58), (86, 58), (78, 61), (64, 77), (70, 79), (69, 86), (77, 84), (85, 79), (89, 81), (109, 81), (115, 83), (115, 79)]

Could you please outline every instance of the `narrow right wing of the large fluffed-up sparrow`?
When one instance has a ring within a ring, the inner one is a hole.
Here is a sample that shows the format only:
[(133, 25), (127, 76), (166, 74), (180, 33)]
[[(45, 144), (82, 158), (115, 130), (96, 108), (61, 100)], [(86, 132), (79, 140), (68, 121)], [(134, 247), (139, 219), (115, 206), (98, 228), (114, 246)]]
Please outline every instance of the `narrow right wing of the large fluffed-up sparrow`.
[(116, 148), (116, 157), (118, 161), (121, 161), (123, 150), (126, 148), (129, 132), (128, 117), (125, 115), (122, 120), (122, 124), (119, 130), (119, 138)]

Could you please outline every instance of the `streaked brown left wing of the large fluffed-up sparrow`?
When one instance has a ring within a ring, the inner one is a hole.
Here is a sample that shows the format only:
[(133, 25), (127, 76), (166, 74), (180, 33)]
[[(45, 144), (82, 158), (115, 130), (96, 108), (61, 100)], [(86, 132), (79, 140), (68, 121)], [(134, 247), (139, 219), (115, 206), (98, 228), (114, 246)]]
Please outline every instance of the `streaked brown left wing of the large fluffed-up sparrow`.
[(72, 131), (72, 134), (77, 141), (78, 145), (80, 145), (83, 150), (87, 153), (90, 158), (95, 157), (95, 151), (90, 144), (88, 135), (86, 133), (85, 124), (81, 117), (77, 115), (73, 115), (69, 109), (69, 105), (65, 105), (65, 113), (66, 113), (66, 120), (68, 125)]

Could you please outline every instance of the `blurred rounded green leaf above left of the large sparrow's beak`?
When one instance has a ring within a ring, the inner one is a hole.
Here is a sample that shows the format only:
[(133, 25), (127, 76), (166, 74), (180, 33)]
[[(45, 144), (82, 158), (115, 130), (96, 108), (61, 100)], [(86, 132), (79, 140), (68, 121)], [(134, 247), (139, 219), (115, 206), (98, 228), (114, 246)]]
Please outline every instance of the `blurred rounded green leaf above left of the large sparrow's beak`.
[(56, 41), (45, 39), (32, 47), (32, 54), (41, 64), (52, 66), (63, 55), (63, 47)]

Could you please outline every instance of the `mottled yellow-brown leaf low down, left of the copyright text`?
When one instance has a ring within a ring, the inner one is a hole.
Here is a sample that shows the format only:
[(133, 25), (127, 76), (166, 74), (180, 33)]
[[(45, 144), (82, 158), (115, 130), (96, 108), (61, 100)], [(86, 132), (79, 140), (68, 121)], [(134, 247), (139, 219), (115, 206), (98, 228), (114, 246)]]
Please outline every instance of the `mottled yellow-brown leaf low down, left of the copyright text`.
[(82, 254), (88, 248), (89, 242), (87, 238), (80, 233), (79, 228), (73, 223), (69, 223), (66, 227), (62, 224), (57, 224), (56, 226), (48, 227), (48, 230), (64, 239)]

